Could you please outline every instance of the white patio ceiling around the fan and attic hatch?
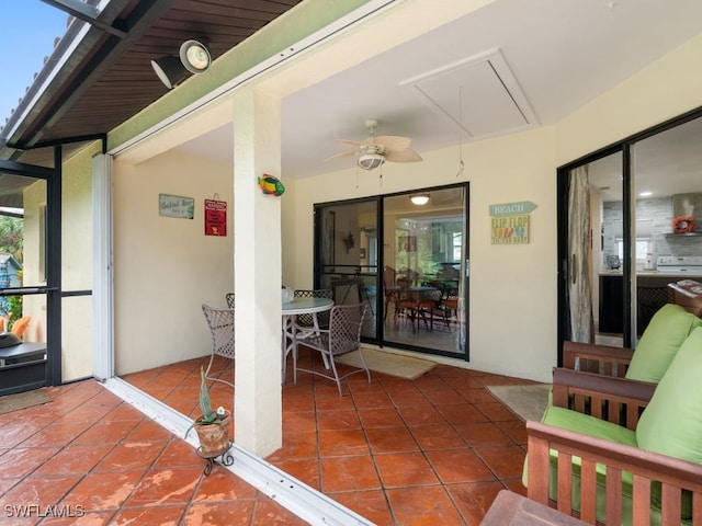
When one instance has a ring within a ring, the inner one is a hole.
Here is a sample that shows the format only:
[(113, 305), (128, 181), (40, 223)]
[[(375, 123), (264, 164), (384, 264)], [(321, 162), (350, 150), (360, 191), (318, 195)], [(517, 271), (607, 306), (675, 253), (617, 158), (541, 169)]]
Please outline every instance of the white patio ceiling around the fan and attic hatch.
[[(421, 24), (399, 14), (398, 33)], [(344, 151), (335, 139), (363, 140), (367, 117), (377, 135), (411, 137), (420, 155), (556, 123), (698, 35), (701, 20), (700, 0), (487, 2), (286, 96), (283, 173), (351, 168), (353, 158), (325, 159)], [(230, 159), (231, 144), (224, 126), (181, 149)]]

